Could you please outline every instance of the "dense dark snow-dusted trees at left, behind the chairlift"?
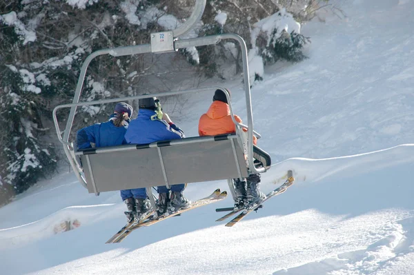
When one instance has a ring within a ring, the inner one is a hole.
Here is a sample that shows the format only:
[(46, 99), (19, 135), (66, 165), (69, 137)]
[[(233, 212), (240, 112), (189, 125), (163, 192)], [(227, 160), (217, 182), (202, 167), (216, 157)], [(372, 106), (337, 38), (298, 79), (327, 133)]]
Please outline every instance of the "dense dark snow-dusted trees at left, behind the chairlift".
[[(159, 10), (155, 2), (0, 3), (0, 123), (4, 129), (0, 132), (1, 196), (23, 192), (39, 177), (55, 170), (57, 152), (50, 142), (56, 142), (52, 110), (72, 100), (81, 64), (88, 54), (103, 48), (149, 43), (150, 32), (177, 28), (177, 19)], [(154, 73), (157, 66), (152, 64), (160, 58), (152, 54), (98, 57), (88, 68), (82, 100), (156, 90), (152, 80), (169, 77)], [(177, 63), (174, 65), (180, 72)], [(74, 130), (102, 121), (110, 109), (104, 105), (79, 108)], [(67, 112), (63, 110), (58, 116), (66, 117)], [(3, 187), (7, 184), (14, 187), (13, 192)]]

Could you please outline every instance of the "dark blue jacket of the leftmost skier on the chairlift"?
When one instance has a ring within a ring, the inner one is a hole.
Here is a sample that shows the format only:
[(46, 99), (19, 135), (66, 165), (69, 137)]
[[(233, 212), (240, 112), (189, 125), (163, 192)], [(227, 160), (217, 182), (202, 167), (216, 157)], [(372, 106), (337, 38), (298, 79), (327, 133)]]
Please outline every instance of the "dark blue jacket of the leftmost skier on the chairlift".
[[(110, 118), (114, 115), (110, 116)], [(78, 150), (95, 147), (106, 147), (124, 144), (125, 127), (117, 127), (112, 121), (97, 123), (77, 131)]]

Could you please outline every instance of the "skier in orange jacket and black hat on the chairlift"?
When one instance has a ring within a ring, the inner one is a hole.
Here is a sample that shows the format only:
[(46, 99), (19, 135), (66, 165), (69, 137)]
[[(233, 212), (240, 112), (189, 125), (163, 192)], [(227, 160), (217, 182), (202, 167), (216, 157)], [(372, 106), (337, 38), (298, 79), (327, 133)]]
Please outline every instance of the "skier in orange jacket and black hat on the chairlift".
[[(228, 94), (230, 91), (227, 90)], [(242, 123), (237, 114), (235, 120)], [(200, 136), (216, 136), (218, 134), (231, 134), (236, 132), (236, 125), (230, 114), (230, 108), (226, 94), (222, 90), (216, 90), (213, 96), (213, 103), (206, 114), (201, 115), (199, 119)], [(247, 129), (244, 128), (244, 131)], [(256, 145), (257, 138), (253, 136), (253, 144)], [(233, 179), (235, 185), (235, 207), (240, 207), (244, 203), (255, 203), (262, 201), (266, 196), (260, 191), (260, 174), (250, 174), (246, 179)]]

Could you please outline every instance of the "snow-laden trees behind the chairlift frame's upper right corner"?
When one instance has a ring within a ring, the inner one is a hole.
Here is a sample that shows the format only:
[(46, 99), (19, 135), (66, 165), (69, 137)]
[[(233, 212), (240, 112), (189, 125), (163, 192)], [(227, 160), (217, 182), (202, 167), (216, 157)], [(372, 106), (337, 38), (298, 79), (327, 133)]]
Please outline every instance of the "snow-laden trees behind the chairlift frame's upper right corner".
[[(305, 58), (302, 48), (310, 42), (300, 34), (300, 24), (293, 15), (277, 1), (209, 1), (203, 20), (201, 35), (233, 32), (242, 36), (250, 49), (249, 63), (255, 64), (252, 69), (279, 59), (300, 61)], [(219, 68), (228, 60), (235, 61), (233, 74), (242, 71), (239, 54), (233, 42), (225, 41), (218, 47), (207, 46), (199, 50), (199, 60), (210, 74), (218, 73), (224, 77), (224, 70)], [(253, 78), (250, 78), (254, 81), (263, 77), (260, 71), (253, 70)]]

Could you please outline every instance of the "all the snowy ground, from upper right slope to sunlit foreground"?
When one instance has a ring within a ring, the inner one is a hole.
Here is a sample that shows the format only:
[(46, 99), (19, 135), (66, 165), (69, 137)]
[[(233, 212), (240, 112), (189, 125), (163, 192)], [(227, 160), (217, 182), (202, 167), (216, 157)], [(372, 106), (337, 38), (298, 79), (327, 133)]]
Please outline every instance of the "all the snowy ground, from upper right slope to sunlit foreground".
[[(1, 274), (414, 274), (414, 1), (349, 2), (345, 19), (302, 28), (310, 59), (270, 68), (252, 90), (259, 145), (276, 163), (263, 190), (291, 169), (286, 193), (235, 227), (215, 223), (228, 198), (105, 245), (125, 223), (119, 194), (96, 197), (62, 173), (0, 208)], [(225, 85), (243, 117), (241, 86)], [(210, 97), (172, 117), (188, 136)]]

